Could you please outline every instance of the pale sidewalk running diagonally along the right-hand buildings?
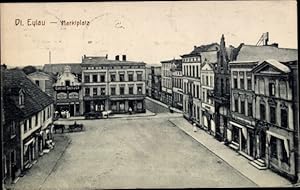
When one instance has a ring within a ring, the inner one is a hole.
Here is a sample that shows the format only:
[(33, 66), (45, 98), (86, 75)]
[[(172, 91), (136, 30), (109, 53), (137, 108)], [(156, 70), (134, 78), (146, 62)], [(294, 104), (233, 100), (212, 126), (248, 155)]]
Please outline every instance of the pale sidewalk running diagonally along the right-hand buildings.
[(259, 187), (292, 187), (290, 181), (269, 169), (258, 170), (249, 163), (248, 159), (220, 143), (205, 131), (198, 129), (197, 132), (193, 132), (193, 126), (185, 119), (175, 118), (169, 119), (169, 121), (204, 145), (208, 150), (223, 159), (241, 174), (252, 180)]

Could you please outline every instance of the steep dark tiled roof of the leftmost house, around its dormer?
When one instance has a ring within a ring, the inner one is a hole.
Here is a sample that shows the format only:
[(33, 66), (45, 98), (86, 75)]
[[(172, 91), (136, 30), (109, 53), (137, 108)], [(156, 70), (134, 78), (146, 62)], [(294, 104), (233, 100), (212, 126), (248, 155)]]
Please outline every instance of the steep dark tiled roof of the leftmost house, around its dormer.
[[(52, 98), (36, 86), (22, 70), (4, 70), (3, 84), (6, 120), (27, 118), (53, 103)], [(20, 90), (24, 92), (22, 108), (18, 106)]]

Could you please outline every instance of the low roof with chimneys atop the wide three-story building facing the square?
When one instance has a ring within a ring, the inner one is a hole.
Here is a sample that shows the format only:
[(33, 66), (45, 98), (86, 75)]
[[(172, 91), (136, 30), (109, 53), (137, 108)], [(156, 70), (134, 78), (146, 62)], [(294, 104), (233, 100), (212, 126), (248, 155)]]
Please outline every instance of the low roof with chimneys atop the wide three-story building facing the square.
[(143, 65), (144, 62), (135, 62), (135, 61), (121, 61), (121, 60), (109, 60), (106, 57), (92, 57), (85, 56), (82, 59), (81, 66), (94, 66), (94, 65)]

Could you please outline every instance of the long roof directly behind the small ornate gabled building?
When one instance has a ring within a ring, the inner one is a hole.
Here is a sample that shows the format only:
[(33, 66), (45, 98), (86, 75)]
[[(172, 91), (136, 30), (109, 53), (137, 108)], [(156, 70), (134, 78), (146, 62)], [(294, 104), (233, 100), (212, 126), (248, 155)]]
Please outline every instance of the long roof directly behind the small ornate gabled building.
[(80, 63), (57, 63), (57, 64), (45, 64), (43, 71), (56, 75), (57, 73), (63, 73), (65, 66), (71, 67), (71, 72), (75, 74), (81, 74)]

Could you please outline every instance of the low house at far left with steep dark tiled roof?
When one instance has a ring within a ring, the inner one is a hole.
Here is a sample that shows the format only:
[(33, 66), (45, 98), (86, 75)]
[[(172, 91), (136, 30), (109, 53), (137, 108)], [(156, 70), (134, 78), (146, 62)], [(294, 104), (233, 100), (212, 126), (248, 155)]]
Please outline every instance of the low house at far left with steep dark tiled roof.
[(6, 168), (14, 178), (30, 168), (51, 142), (53, 99), (21, 70), (3, 74)]

